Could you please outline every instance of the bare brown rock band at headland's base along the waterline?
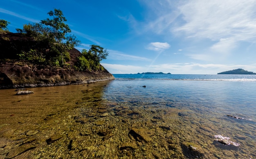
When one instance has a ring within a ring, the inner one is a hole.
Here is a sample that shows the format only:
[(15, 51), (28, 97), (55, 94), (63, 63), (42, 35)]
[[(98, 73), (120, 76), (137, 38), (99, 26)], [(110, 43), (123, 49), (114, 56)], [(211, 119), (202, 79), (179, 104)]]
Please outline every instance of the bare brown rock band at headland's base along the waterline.
[(106, 69), (102, 72), (78, 72), (69, 69), (38, 69), (13, 63), (0, 65), (0, 89), (86, 84), (112, 79), (115, 77)]

